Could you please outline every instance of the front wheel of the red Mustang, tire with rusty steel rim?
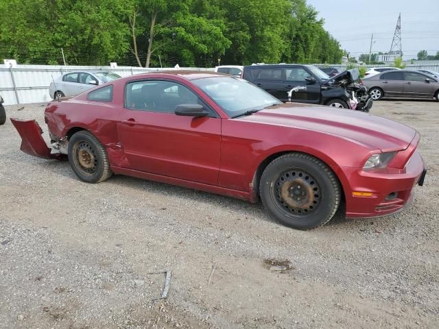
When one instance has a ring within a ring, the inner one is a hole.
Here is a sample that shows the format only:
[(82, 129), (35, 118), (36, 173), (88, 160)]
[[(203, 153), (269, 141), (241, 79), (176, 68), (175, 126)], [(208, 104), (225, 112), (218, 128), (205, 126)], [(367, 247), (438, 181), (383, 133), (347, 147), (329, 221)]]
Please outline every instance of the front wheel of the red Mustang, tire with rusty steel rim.
[(268, 164), (259, 193), (270, 217), (298, 230), (329, 222), (340, 206), (342, 194), (327, 164), (302, 153), (285, 154)]

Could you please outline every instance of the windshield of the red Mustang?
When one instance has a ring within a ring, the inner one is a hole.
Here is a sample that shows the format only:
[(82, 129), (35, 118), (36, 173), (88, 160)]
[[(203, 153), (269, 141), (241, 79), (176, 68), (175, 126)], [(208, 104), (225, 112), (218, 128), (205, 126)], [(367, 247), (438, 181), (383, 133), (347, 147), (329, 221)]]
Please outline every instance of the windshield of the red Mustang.
[(263, 110), (268, 106), (280, 104), (261, 88), (237, 77), (205, 77), (193, 80), (229, 117), (239, 117), (248, 111)]

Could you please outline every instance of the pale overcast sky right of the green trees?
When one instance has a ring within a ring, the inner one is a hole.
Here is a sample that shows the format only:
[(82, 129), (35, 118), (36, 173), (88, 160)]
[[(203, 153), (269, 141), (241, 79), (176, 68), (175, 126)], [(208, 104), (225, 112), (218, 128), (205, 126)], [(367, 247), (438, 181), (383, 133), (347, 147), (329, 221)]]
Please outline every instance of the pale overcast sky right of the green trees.
[(401, 37), (404, 59), (416, 58), (425, 49), (439, 51), (439, 0), (307, 0), (324, 19), (324, 27), (351, 56), (390, 51), (401, 12)]

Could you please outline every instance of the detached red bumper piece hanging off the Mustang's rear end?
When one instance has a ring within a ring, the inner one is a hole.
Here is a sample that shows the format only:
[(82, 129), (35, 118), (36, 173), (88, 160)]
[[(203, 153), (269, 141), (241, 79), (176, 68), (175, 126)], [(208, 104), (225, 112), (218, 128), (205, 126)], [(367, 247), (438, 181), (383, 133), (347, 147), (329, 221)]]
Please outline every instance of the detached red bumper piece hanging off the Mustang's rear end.
[(51, 149), (47, 147), (43, 136), (41, 136), (43, 130), (35, 120), (19, 120), (11, 118), (11, 121), (21, 136), (21, 151), (43, 159), (64, 160), (66, 158), (64, 154), (51, 154)]

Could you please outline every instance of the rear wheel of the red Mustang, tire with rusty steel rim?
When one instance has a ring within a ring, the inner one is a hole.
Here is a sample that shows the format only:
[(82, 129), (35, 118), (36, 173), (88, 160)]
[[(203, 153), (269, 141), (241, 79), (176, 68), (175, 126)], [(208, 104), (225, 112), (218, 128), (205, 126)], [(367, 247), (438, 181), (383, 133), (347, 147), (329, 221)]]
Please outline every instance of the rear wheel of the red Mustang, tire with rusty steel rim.
[(71, 169), (84, 182), (99, 183), (112, 175), (106, 149), (91, 132), (73, 134), (68, 154)]

